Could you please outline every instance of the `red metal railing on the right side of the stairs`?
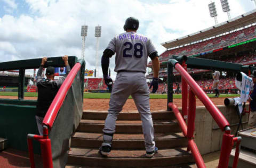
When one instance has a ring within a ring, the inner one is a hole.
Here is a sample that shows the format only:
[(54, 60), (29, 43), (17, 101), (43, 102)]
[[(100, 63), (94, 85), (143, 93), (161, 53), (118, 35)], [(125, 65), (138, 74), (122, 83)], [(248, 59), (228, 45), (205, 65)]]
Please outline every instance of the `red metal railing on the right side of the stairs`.
[[(182, 68), (183, 66), (183, 68)], [(182, 77), (182, 112), (185, 112), (183, 116), (179, 112), (177, 106), (173, 103), (169, 103), (168, 106), (172, 108), (174, 115), (176, 116), (180, 128), (183, 132), (183, 135), (188, 138), (188, 150), (191, 150), (193, 157), (195, 158), (195, 162), (198, 167), (206, 167), (203, 161), (201, 154), (193, 140), (194, 138), (194, 130), (195, 130), (195, 116), (196, 116), (196, 97), (201, 100), (201, 102), (205, 105), (206, 109), (210, 112), (213, 119), (222, 131), (225, 131), (222, 138), (222, 146), (221, 146), (221, 154), (219, 159), (219, 168), (228, 167), (229, 156), (234, 145), (236, 144), (236, 154), (234, 158), (233, 167), (237, 166), (238, 156), (239, 156), (239, 143), (241, 141), (241, 137), (234, 137), (234, 135), (230, 135), (229, 123), (226, 120), (225, 116), (219, 111), (219, 109), (213, 104), (211, 99), (205, 94), (205, 92), (197, 85), (196, 81), (189, 75), (186, 71), (186, 63), (183, 62), (182, 66), (177, 62), (174, 64), (174, 68), (180, 72)], [(185, 68), (185, 69), (184, 69)], [(187, 88), (190, 86), (189, 97), (187, 95)], [(185, 89), (185, 90), (183, 90)], [(184, 93), (184, 94), (183, 94)], [(187, 104), (187, 101), (189, 103)], [(186, 125), (186, 114), (188, 113), (188, 126)]]

